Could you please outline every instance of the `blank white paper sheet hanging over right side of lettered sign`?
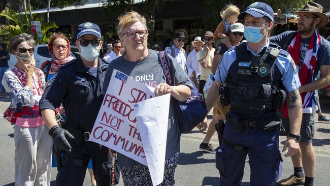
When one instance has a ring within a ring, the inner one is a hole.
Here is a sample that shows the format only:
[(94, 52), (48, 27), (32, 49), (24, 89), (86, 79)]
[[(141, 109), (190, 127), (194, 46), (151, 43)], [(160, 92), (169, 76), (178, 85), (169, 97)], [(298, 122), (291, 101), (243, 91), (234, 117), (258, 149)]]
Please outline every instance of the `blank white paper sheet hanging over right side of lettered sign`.
[(160, 184), (164, 175), (170, 98), (167, 94), (134, 105), (153, 185)]

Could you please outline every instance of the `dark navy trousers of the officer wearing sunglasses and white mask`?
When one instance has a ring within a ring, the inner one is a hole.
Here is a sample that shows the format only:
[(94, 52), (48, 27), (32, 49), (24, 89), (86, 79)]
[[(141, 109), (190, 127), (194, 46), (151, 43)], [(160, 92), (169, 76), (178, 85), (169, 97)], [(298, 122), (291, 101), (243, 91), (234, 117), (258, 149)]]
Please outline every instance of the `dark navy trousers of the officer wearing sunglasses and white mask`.
[(57, 173), (56, 185), (83, 185), (89, 160), (92, 160), (96, 184), (111, 185), (111, 157), (108, 147), (87, 141), (77, 146), (69, 140), (71, 152), (64, 152), (63, 167)]

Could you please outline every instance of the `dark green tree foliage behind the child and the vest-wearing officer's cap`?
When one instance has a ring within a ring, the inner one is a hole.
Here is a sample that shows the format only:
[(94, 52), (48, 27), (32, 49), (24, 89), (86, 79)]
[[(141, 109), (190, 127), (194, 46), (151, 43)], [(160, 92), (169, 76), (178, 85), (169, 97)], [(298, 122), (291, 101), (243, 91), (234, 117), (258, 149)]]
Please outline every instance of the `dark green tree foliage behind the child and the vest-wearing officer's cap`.
[[(304, 7), (304, 5), (309, 0), (264, 0), (262, 2), (270, 5), (274, 12), (281, 9), (281, 13), (287, 13), (292, 10), (299, 10)], [(203, 2), (203, 24), (204, 29), (215, 30), (216, 26), (222, 20), (220, 17), (220, 11), (229, 3), (236, 5), (241, 12), (243, 12), (249, 5), (256, 2), (255, 0), (208, 0)]]

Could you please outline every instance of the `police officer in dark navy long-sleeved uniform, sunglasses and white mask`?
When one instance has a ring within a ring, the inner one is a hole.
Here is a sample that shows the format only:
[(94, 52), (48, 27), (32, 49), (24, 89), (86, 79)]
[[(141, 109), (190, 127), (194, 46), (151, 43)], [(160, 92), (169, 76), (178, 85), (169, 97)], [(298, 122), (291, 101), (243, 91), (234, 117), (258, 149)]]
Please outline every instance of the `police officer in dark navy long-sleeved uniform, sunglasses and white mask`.
[[(87, 164), (92, 159), (97, 185), (111, 184), (111, 158), (108, 148), (88, 141), (103, 96), (108, 63), (98, 57), (101, 30), (94, 23), (78, 26), (80, 57), (63, 66), (49, 81), (40, 111), (57, 148), (64, 150), (64, 165), (56, 177), (57, 185), (82, 185)], [(55, 108), (63, 104), (68, 129), (55, 119)]]

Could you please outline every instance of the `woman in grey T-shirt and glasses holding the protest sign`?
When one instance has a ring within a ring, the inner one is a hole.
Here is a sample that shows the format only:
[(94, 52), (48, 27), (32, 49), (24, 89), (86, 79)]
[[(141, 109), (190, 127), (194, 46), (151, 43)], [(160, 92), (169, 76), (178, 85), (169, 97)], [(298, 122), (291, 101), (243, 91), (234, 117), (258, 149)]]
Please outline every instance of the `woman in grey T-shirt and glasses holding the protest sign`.
[[(126, 54), (109, 64), (104, 81), (107, 89), (114, 70), (121, 71), (129, 77), (155, 87), (155, 96), (171, 94), (179, 101), (186, 101), (192, 86), (189, 77), (178, 66), (172, 56), (171, 73), (175, 86), (166, 83), (161, 64), (158, 62), (158, 52), (147, 48), (146, 19), (137, 12), (128, 12), (119, 17), (118, 35)], [(171, 98), (167, 132), (166, 156), (163, 181), (160, 185), (174, 185), (174, 172), (178, 164), (180, 149), (180, 132), (174, 112), (174, 99)], [(149, 169), (133, 159), (118, 153), (118, 165), (125, 185), (152, 185)]]

